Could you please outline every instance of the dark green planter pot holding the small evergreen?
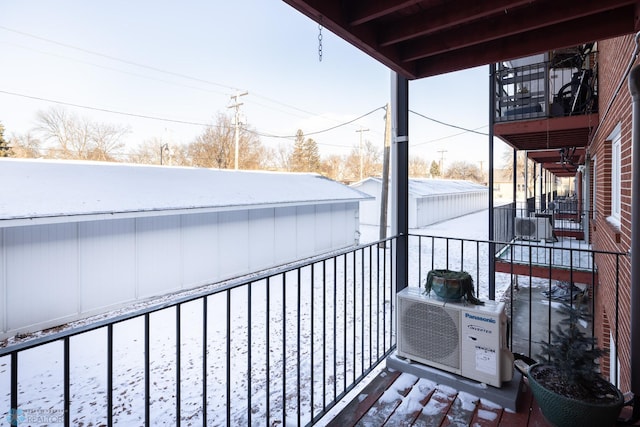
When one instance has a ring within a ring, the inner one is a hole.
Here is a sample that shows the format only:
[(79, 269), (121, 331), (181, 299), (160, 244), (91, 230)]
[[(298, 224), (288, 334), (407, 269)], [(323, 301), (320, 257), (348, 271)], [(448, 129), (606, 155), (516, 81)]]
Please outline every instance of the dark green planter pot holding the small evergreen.
[(531, 366), (527, 378), (533, 397), (538, 402), (542, 414), (552, 425), (558, 427), (608, 427), (616, 423), (624, 405), (624, 397), (615, 386), (609, 384), (611, 394), (617, 397), (615, 402), (590, 403), (571, 399), (545, 388), (536, 380), (536, 372), (545, 368), (546, 365), (539, 363)]

